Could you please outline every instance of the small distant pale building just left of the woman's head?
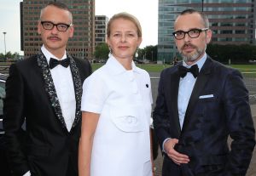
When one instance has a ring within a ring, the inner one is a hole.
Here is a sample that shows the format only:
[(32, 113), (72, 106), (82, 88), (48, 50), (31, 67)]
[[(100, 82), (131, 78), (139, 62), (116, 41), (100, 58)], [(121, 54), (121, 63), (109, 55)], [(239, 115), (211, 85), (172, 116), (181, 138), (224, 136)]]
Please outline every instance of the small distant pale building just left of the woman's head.
[(105, 15), (95, 16), (95, 46), (107, 42), (108, 17)]

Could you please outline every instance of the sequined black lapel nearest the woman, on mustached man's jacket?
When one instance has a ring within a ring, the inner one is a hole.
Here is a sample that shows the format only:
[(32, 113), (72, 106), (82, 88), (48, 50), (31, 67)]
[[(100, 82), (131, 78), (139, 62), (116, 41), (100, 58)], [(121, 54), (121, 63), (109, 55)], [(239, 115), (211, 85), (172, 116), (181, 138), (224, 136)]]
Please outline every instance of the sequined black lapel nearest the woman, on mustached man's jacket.
[[(75, 92), (76, 99), (76, 114), (73, 121), (72, 129), (79, 123), (79, 120), (82, 117), (81, 113), (81, 98), (82, 98), (82, 82), (80, 78), (79, 68), (76, 65), (75, 60), (70, 54), (67, 54), (67, 57), (70, 59), (70, 70), (73, 77), (73, 88)], [(85, 68), (84, 68), (85, 69)]]

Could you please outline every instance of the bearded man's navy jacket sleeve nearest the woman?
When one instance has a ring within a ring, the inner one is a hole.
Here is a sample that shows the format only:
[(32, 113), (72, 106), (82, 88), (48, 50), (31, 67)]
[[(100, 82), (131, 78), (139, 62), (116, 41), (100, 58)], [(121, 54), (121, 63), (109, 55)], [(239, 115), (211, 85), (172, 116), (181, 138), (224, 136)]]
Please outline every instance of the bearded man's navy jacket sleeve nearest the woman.
[(166, 107), (166, 96), (164, 92), (164, 89), (165, 89), (164, 87), (165, 87), (165, 76), (164, 76), (164, 72), (162, 72), (160, 76), (156, 104), (153, 112), (154, 131), (158, 138), (161, 150), (163, 150), (162, 144), (164, 140), (171, 137), (171, 134), (169, 132), (171, 125), (168, 120), (168, 111)]

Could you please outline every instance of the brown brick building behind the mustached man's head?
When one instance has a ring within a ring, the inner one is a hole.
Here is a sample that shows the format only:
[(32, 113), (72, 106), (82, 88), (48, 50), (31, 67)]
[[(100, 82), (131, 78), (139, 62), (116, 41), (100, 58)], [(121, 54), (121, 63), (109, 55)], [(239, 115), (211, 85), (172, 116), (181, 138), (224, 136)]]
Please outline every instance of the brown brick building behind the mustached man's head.
[[(55, 0), (56, 1), (56, 0)], [(38, 35), (40, 9), (49, 0), (23, 0), (20, 3), (21, 50), (24, 57), (37, 54), (42, 46)], [(67, 52), (75, 57), (93, 57), (95, 50), (95, 0), (59, 0), (66, 3), (73, 13), (74, 35), (69, 39)]]

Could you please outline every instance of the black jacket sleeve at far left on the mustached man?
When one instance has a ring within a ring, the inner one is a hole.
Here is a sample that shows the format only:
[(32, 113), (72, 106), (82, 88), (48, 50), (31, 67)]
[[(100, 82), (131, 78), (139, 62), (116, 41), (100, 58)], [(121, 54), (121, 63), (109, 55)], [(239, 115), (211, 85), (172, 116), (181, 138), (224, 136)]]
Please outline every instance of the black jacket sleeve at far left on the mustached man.
[(22, 150), (24, 131), (21, 126), (25, 120), (24, 105), (24, 82), (17, 66), (11, 65), (6, 81), (6, 98), (3, 103), (3, 128), (10, 167), (18, 175), (23, 175), (29, 170)]

